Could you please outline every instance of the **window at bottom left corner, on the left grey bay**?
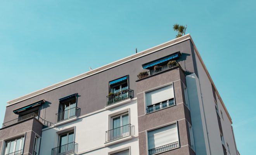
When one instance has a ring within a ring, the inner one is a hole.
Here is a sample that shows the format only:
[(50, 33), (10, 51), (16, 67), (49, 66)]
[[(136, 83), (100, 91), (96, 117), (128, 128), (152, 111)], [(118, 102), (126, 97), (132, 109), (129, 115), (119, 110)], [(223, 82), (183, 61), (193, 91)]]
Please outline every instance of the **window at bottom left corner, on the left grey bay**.
[(14, 140), (6, 141), (4, 155), (9, 155), (10, 153), (13, 153), (15, 155), (21, 155), (23, 146), (24, 146), (24, 136), (16, 138)]

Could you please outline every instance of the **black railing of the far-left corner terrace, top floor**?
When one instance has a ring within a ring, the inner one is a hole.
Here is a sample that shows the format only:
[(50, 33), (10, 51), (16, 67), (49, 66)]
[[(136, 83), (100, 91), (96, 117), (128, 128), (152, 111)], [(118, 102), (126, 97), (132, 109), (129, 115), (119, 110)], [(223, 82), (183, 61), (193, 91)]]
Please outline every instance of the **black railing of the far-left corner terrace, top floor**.
[(51, 122), (45, 121), (44, 119), (42, 119), (41, 117), (39, 117), (35, 112), (33, 112), (33, 113), (30, 113), (30, 114), (21, 116), (21, 117), (19, 117), (19, 118), (17, 118), (17, 119), (14, 119), (14, 120), (12, 120), (12, 121), (8, 121), (8, 122), (3, 123), (2, 128), (3, 128), (3, 127), (10, 126), (10, 125), (12, 125), (12, 124), (16, 124), (16, 123), (25, 121), (25, 120), (28, 120), (28, 119), (33, 118), (33, 117), (35, 117), (35, 119), (37, 119), (38, 121), (40, 121), (40, 122), (41, 122), (42, 124), (44, 124), (45, 126), (52, 126), (52, 123), (51, 123)]

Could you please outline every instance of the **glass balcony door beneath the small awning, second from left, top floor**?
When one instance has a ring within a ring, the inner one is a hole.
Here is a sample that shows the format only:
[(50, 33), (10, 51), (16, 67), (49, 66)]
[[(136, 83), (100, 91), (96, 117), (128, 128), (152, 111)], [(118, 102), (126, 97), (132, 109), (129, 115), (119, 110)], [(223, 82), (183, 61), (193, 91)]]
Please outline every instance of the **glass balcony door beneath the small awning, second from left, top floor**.
[(61, 102), (60, 108), (59, 121), (74, 117), (76, 115), (76, 98)]

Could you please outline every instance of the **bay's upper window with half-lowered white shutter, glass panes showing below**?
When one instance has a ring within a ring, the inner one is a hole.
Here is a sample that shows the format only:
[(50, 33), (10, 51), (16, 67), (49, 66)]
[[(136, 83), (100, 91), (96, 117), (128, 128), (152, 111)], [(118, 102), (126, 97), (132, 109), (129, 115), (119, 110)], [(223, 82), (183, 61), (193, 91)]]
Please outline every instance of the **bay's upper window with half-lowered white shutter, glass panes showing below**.
[(146, 113), (175, 105), (173, 85), (164, 86), (146, 93)]

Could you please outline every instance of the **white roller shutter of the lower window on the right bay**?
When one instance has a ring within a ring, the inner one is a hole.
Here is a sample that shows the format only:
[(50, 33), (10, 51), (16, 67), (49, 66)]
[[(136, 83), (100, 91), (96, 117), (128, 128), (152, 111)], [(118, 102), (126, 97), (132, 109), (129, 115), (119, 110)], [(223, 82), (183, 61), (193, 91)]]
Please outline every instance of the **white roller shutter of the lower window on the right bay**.
[(148, 132), (149, 150), (178, 141), (177, 124)]

